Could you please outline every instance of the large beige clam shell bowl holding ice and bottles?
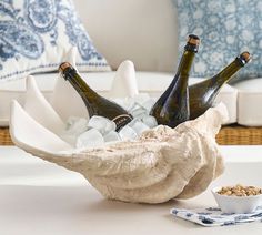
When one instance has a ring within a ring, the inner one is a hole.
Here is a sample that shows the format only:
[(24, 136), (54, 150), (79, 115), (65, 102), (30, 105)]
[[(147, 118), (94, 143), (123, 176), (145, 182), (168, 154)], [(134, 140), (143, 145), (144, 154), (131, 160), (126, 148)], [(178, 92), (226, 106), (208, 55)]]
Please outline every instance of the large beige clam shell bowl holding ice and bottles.
[[(134, 74), (130, 63), (124, 67), (123, 76)], [(32, 155), (82, 174), (107, 198), (134, 203), (190, 198), (223, 172), (215, 142), (228, 115), (223, 104), (175, 129), (158, 125), (132, 141), (87, 149), (59, 137), (70, 115), (87, 116), (87, 110), (68, 82), (58, 76), (47, 101), (29, 76), (26, 102), (11, 104), (12, 141)]]

